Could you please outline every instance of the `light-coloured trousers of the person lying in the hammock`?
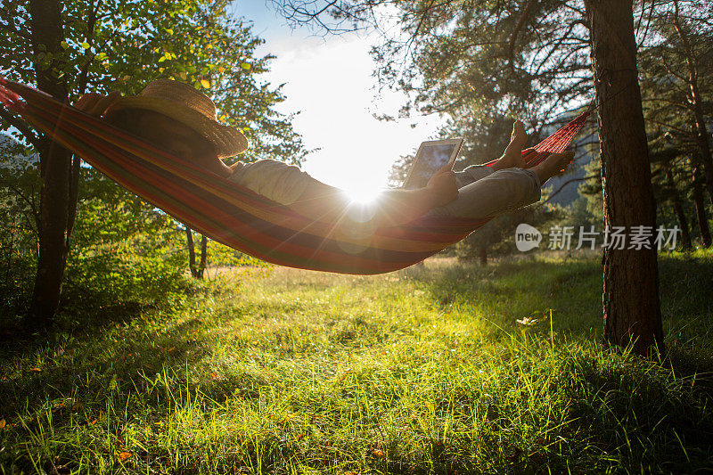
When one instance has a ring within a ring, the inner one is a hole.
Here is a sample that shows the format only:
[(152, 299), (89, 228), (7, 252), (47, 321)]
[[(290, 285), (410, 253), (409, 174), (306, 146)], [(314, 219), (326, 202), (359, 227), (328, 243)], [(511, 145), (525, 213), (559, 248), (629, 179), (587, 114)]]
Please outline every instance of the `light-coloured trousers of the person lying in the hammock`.
[(431, 209), (429, 215), (494, 217), (540, 201), (540, 180), (534, 171), (505, 168), (493, 171), (484, 165), (472, 165), (455, 172), (458, 198), (446, 206)]

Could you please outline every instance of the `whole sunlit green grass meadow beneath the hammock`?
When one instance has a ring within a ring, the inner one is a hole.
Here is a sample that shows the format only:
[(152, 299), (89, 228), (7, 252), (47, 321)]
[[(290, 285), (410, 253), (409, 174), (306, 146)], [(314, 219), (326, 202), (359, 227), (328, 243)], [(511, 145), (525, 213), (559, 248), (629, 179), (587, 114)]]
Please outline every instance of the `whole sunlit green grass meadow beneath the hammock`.
[(48, 340), (0, 349), (0, 466), (711, 471), (712, 261), (660, 259), (669, 353), (654, 363), (599, 345), (602, 269), (586, 258), (242, 268), (170, 305), (64, 315)]

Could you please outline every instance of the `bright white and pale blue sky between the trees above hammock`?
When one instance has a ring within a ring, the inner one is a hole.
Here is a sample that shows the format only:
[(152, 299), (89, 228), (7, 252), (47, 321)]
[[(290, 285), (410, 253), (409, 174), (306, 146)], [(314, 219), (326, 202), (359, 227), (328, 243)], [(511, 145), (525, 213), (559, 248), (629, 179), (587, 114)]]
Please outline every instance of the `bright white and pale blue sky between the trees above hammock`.
[(252, 22), (254, 35), (266, 40), (258, 55), (276, 56), (262, 76), (273, 86), (284, 84), (286, 100), (275, 109), (299, 111), (294, 129), (307, 149), (320, 149), (302, 165), (310, 175), (366, 198), (386, 186), (394, 161), (435, 136), (437, 116), (373, 118), (373, 113), (396, 117), (405, 102), (403, 94), (389, 91), (375, 99), (369, 55), (379, 41), (375, 33), (322, 37), (306, 27), (293, 30), (265, 0), (235, 0), (233, 8)]

